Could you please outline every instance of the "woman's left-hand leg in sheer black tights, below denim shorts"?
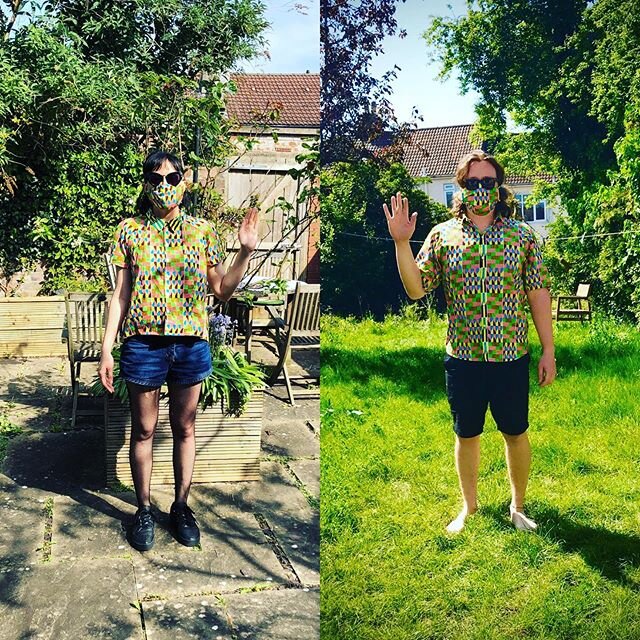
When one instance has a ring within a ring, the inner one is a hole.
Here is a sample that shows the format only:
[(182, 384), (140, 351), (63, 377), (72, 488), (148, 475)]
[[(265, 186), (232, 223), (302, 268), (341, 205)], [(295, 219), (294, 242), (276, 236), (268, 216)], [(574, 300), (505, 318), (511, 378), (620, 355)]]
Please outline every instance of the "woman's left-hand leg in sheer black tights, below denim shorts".
[(151, 469), (153, 434), (158, 422), (160, 388), (150, 389), (127, 382), (131, 407), (131, 442), (129, 464), (136, 489), (138, 506), (151, 504)]

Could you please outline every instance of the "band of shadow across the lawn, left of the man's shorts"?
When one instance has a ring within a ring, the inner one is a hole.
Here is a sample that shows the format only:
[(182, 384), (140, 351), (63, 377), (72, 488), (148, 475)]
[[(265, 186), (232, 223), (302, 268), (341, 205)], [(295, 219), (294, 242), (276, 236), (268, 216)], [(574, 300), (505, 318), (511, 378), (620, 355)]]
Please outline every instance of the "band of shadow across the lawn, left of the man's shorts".
[(320, 357), (323, 375), (331, 368), (331, 376), (340, 381), (366, 385), (380, 377), (393, 383), (394, 395), (408, 395), (421, 402), (445, 397), (444, 348), (365, 351), (327, 347)]

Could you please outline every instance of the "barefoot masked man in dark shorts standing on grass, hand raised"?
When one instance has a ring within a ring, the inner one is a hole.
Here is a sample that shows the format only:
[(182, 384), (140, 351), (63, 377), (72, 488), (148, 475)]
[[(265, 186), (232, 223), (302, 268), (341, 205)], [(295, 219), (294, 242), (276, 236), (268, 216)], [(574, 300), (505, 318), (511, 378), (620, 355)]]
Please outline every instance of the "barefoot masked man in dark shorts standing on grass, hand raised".
[(527, 436), (529, 354), (528, 302), (542, 344), (538, 383), (556, 376), (549, 276), (535, 234), (513, 216), (502, 186), (504, 170), (483, 151), (465, 156), (456, 171), (461, 192), (453, 217), (436, 225), (414, 260), (409, 241), (416, 213), (401, 193), (384, 204), (398, 269), (410, 298), (444, 285), (449, 326), (445, 377), (456, 433), (455, 460), (463, 506), (447, 531), (462, 531), (476, 512), (480, 434), (487, 407), (505, 439), (511, 483), (511, 521), (533, 531), (524, 511), (531, 464)]

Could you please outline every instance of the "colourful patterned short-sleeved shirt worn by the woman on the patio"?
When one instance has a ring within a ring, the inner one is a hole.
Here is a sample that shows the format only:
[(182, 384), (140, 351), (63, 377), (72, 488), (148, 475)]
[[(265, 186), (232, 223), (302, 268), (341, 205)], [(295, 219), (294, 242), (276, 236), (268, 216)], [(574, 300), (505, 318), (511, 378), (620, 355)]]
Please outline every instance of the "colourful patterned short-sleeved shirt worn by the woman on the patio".
[(131, 302), (122, 338), (180, 335), (208, 339), (207, 267), (224, 260), (209, 222), (181, 213), (164, 222), (152, 214), (122, 220), (111, 262), (131, 269)]

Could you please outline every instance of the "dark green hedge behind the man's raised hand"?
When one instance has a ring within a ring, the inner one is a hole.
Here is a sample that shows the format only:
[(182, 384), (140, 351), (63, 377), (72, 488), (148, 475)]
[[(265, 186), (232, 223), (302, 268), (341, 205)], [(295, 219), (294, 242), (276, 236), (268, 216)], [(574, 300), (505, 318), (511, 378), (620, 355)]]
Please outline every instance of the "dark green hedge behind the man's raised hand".
[(414, 238), (448, 217), (400, 163), (336, 162), (320, 175), (323, 304), (332, 311), (378, 317), (406, 301), (382, 203), (401, 191), (418, 212)]

